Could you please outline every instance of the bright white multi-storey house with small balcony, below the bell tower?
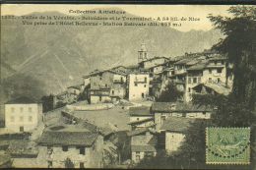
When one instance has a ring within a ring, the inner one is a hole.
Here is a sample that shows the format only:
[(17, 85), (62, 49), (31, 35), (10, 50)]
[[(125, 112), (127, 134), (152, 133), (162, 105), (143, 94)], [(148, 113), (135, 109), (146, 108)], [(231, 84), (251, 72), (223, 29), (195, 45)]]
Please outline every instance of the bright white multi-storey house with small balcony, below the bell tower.
[(133, 73), (129, 75), (129, 100), (143, 100), (149, 95), (150, 77), (147, 73)]

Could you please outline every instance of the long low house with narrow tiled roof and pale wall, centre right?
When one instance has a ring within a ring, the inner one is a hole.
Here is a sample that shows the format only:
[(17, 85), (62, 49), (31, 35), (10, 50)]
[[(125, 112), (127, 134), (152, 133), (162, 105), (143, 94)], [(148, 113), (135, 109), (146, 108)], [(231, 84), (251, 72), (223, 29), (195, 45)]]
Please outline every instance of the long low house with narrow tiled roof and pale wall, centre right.
[(161, 125), (168, 117), (210, 119), (213, 108), (182, 102), (154, 102), (152, 112), (155, 116), (156, 130), (160, 131)]

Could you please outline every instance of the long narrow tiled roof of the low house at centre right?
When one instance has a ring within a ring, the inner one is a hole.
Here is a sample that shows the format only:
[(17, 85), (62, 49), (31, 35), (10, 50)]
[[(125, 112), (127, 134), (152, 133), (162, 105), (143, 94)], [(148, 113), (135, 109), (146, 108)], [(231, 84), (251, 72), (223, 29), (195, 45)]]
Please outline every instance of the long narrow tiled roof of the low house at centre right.
[(153, 112), (193, 112), (193, 111), (212, 111), (213, 109), (204, 105), (196, 105), (183, 102), (154, 102)]

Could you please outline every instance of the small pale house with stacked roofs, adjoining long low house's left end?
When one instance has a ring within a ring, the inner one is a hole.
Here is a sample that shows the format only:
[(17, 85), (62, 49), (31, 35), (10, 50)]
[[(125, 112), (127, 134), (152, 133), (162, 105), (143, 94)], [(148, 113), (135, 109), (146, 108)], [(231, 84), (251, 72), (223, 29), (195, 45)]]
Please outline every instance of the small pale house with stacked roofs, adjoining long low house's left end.
[(137, 130), (140, 128), (154, 128), (154, 115), (151, 113), (150, 107), (130, 107), (130, 122), (131, 130)]

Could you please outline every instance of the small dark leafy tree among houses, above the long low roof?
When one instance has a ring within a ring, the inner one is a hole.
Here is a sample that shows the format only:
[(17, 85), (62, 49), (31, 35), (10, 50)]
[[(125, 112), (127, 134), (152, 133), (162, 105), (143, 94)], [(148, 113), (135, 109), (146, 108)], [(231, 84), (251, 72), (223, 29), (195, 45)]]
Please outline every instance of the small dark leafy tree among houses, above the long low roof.
[(179, 91), (176, 85), (169, 83), (165, 89), (160, 93), (157, 101), (160, 102), (175, 102), (183, 95), (182, 91)]

